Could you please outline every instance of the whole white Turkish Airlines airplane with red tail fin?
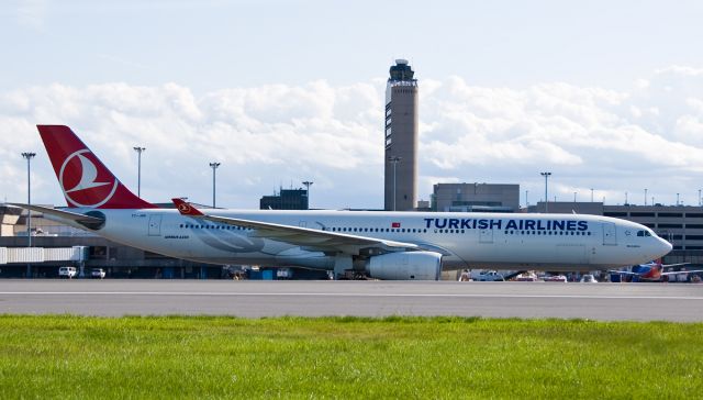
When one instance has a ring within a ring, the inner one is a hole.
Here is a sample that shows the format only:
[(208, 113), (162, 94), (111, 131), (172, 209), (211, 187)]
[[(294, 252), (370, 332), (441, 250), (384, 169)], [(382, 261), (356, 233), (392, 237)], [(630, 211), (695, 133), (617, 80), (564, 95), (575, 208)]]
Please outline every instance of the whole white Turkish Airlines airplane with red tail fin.
[(593, 270), (671, 251), (650, 229), (579, 214), (160, 209), (63, 125), (38, 125), (68, 208), (15, 204), (145, 251), (210, 264), (436, 280), (443, 268)]

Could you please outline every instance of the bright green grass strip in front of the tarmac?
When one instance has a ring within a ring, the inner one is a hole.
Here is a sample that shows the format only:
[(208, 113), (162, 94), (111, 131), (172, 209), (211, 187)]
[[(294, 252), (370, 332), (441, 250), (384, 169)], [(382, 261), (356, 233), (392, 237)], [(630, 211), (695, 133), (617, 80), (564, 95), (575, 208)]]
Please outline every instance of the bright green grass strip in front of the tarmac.
[(0, 315), (0, 399), (700, 399), (703, 324)]

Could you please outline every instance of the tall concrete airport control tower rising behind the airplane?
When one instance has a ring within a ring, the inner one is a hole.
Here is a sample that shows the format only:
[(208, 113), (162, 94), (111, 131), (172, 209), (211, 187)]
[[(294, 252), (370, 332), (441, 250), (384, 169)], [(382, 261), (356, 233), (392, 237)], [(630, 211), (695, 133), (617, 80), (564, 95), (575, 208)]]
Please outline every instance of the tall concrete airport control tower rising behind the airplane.
[(411, 211), (417, 199), (417, 79), (397, 59), (386, 86), (386, 210)]

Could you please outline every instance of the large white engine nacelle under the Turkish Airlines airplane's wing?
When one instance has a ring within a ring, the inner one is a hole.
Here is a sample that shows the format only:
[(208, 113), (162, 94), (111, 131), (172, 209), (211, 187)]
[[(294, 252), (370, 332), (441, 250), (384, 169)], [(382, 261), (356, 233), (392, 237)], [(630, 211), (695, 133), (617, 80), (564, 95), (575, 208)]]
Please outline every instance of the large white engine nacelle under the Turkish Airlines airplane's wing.
[(439, 280), (442, 254), (402, 252), (373, 256), (366, 263), (371, 278), (384, 280)]

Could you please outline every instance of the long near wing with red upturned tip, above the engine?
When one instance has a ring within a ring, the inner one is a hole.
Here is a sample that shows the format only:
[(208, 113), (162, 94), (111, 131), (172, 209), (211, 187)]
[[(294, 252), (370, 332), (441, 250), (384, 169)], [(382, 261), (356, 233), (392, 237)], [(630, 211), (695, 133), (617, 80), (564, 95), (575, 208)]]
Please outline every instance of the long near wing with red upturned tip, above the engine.
[(171, 199), (181, 215), (199, 218), (207, 221), (225, 223), (234, 226), (254, 229), (259, 237), (290, 243), (321, 252), (344, 252), (358, 254), (360, 249), (378, 248), (381, 252), (421, 249), (413, 243), (387, 241), (376, 237), (348, 235), (337, 232), (319, 231), (309, 227), (281, 225), (270, 222), (242, 220), (228, 216), (205, 214), (181, 199)]

